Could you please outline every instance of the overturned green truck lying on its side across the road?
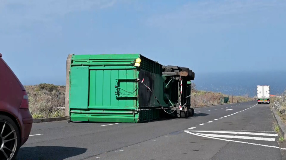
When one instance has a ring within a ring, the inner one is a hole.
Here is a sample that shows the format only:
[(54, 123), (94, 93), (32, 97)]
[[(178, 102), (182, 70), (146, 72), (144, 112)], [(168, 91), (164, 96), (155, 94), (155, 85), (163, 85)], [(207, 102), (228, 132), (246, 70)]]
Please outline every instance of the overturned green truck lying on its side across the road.
[(68, 122), (138, 123), (189, 117), (194, 72), (163, 66), (140, 54), (68, 55)]

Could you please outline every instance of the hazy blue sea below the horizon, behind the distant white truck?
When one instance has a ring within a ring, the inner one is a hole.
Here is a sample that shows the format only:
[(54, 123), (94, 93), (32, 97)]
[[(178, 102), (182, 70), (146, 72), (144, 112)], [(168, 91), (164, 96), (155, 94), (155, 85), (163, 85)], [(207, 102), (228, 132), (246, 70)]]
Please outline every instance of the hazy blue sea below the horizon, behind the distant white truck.
[(280, 95), (286, 88), (286, 71), (271, 72), (195, 72), (198, 90), (221, 92), (227, 95), (256, 95), (257, 85), (270, 85), (271, 95)]

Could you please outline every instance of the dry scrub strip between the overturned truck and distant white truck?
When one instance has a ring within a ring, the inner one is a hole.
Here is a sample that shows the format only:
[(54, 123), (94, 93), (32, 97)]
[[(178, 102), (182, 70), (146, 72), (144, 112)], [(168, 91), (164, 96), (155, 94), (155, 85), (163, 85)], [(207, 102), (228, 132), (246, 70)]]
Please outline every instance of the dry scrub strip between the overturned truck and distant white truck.
[(209, 105), (221, 104), (221, 98), (229, 97), (228, 103), (246, 102), (251, 101), (253, 98), (248, 96), (231, 96), (222, 93), (206, 92), (193, 90), (191, 94), (191, 105), (194, 107), (204, 107)]

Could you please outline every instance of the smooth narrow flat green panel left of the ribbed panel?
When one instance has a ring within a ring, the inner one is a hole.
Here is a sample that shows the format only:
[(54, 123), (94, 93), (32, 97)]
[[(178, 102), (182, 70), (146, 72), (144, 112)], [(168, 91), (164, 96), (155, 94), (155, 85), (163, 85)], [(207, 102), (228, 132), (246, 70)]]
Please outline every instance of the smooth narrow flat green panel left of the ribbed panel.
[(70, 108), (88, 108), (89, 68), (72, 67), (70, 81)]

